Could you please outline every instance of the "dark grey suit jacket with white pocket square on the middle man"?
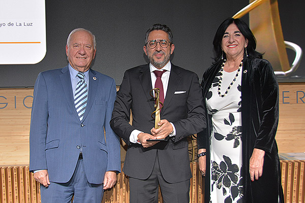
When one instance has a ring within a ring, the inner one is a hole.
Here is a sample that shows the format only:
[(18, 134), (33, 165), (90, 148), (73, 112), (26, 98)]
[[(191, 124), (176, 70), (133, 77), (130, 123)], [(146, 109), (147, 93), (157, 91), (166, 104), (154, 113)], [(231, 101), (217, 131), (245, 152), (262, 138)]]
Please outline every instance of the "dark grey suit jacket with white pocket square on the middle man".
[[(130, 143), (129, 137), (134, 129), (150, 133), (154, 127), (155, 120), (150, 116), (155, 109), (154, 99), (149, 94), (151, 89), (149, 64), (146, 64), (127, 70), (117, 92), (110, 125), (128, 144), (123, 171), (130, 177), (147, 179), (158, 151), (161, 173), (166, 181), (176, 183), (188, 180), (192, 174), (187, 137), (206, 126), (198, 76), (171, 65), (161, 119), (174, 124), (176, 136), (168, 142), (143, 148), (140, 144)], [(130, 110), (132, 125), (129, 124)]]

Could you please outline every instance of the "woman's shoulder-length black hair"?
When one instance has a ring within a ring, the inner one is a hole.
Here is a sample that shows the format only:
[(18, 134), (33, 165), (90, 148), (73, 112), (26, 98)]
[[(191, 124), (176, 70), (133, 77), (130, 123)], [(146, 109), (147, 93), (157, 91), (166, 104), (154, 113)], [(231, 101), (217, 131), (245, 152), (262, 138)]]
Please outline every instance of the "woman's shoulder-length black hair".
[[(247, 23), (245, 23), (244, 21), (242, 21), (238, 18), (235, 18), (235, 19), (234, 18), (228, 18), (220, 24), (220, 26), (218, 27), (218, 29), (216, 31), (215, 37), (214, 37), (213, 45), (214, 45), (214, 52), (215, 52), (215, 58), (214, 58), (215, 63), (217, 63), (218, 61), (221, 60), (222, 39), (223, 39), (223, 36), (224, 36), (224, 33), (225, 33), (226, 29), (232, 23), (234, 23), (238, 27), (238, 29), (242, 33), (242, 35), (248, 40), (248, 46), (247, 46), (248, 57), (249, 58), (262, 58), (263, 57), (262, 54), (255, 51), (255, 49), (256, 49), (256, 39), (255, 39), (251, 29), (247, 25)], [(225, 54), (224, 54), (223, 57), (226, 58)]]

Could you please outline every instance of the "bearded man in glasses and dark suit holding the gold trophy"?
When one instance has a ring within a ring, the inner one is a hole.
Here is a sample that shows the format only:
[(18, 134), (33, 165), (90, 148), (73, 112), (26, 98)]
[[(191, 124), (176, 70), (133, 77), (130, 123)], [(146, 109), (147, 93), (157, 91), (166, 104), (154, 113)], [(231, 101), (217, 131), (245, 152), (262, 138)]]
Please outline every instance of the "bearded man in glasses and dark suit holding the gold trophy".
[[(197, 75), (169, 62), (174, 48), (169, 27), (151, 26), (143, 47), (150, 63), (125, 72), (114, 103), (110, 125), (128, 144), (123, 171), (129, 176), (132, 203), (158, 202), (159, 184), (163, 202), (190, 199), (187, 137), (205, 127), (203, 98)], [(160, 78), (160, 100), (165, 99), (161, 127), (156, 129), (151, 118), (155, 100), (149, 92), (159, 86)], [(163, 138), (167, 141), (147, 141)]]

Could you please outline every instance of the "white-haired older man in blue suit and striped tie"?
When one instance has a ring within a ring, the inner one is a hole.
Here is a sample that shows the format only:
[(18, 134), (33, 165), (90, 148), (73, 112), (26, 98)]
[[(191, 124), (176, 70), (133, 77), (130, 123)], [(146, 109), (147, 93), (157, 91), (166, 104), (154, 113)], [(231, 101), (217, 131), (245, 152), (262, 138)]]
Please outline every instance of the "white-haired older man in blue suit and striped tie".
[[(116, 95), (112, 78), (90, 69), (95, 36), (73, 30), (69, 64), (39, 74), (29, 134), (30, 164), (42, 202), (97, 202), (120, 171), (119, 138), (109, 121)], [(105, 135), (104, 135), (105, 130)]]

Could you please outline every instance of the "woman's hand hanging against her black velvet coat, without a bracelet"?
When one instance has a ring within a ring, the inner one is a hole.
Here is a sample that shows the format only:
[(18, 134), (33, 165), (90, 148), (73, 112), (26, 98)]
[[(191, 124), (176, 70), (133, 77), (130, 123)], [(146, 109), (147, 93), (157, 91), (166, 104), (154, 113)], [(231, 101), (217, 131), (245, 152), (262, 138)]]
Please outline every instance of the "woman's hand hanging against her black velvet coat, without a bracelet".
[(250, 178), (251, 181), (258, 180), (263, 175), (265, 151), (254, 148), (252, 156), (250, 157)]

